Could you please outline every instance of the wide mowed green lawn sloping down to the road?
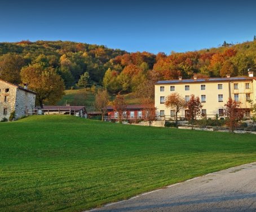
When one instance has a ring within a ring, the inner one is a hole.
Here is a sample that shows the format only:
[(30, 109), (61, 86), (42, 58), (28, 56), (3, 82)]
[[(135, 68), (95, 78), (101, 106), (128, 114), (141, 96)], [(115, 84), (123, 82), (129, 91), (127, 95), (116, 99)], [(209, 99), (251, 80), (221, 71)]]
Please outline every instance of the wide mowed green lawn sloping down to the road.
[(72, 116), (0, 123), (0, 138), (0, 211), (82, 211), (256, 161), (251, 134)]

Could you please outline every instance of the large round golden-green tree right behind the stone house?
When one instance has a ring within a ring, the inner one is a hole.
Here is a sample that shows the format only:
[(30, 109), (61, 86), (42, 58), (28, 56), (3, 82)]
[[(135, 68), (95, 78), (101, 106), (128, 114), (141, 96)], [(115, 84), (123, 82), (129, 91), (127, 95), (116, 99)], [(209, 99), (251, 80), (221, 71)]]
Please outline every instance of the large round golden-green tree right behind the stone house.
[(37, 104), (41, 107), (45, 100), (56, 104), (64, 94), (64, 82), (54, 68), (33, 64), (22, 68), (20, 76), (23, 83), (28, 83), (30, 90), (37, 92)]

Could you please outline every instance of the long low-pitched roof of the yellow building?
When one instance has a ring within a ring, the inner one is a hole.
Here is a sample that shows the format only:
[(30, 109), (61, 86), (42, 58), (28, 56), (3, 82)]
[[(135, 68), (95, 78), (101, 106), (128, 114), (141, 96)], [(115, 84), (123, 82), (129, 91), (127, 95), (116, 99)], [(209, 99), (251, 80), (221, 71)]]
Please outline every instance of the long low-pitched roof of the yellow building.
[(184, 80), (164, 80), (157, 84), (177, 84), (177, 83), (197, 83), (197, 82), (231, 82), (231, 81), (252, 81), (255, 77), (227, 77), (227, 78), (202, 78), (202, 79), (184, 79)]

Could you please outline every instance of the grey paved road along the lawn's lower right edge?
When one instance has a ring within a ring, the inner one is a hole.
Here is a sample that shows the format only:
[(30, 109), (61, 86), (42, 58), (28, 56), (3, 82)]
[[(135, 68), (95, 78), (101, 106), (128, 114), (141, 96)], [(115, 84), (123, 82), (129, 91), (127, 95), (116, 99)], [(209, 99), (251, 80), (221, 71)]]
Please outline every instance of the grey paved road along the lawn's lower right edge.
[(256, 162), (218, 171), (91, 211), (256, 211)]

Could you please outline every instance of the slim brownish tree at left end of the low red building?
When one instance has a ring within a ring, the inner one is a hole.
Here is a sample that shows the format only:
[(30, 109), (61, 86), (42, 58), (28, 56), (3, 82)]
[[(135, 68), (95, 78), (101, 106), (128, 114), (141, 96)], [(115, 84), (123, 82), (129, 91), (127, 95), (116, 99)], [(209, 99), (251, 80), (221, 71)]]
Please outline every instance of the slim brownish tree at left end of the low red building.
[(95, 95), (94, 107), (101, 112), (101, 121), (104, 120), (104, 115), (107, 113), (107, 105), (109, 102), (109, 95), (107, 90), (98, 89)]

